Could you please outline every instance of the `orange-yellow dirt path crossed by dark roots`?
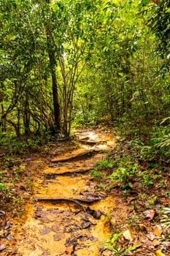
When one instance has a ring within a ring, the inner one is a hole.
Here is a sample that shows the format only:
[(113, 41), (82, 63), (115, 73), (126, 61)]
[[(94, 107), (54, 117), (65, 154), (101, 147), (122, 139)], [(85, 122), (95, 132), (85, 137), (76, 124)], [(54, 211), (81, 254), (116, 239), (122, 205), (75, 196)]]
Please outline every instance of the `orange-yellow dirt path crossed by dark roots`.
[(116, 223), (122, 209), (117, 198), (97, 189), (89, 171), (115, 140), (92, 131), (77, 132), (77, 140), (80, 146), (58, 152), (35, 174), (33, 200), (17, 236), (18, 255), (107, 255), (103, 244), (112, 236), (110, 221)]

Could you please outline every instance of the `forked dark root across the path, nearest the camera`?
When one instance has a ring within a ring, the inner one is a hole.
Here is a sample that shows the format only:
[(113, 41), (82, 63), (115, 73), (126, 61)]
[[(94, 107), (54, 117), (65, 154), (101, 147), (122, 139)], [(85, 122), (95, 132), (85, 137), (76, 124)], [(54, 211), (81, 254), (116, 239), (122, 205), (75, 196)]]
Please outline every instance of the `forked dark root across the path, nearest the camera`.
[(86, 200), (86, 199), (74, 199), (74, 198), (42, 198), (38, 197), (34, 200), (34, 202), (45, 202), (45, 203), (74, 203), (77, 206), (80, 206), (83, 211), (86, 211), (88, 214), (92, 215), (95, 219), (100, 219), (101, 217), (101, 212), (100, 211), (95, 211), (91, 209), (89, 206), (83, 206), (82, 203), (95, 203), (98, 200), (101, 200), (101, 198), (94, 198), (91, 200)]

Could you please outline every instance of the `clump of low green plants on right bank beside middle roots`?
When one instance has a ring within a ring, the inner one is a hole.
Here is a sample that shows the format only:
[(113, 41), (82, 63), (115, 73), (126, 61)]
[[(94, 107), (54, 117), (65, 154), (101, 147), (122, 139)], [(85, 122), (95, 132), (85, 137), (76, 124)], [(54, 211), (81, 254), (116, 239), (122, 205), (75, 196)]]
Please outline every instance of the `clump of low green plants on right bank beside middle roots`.
[[(138, 149), (142, 148), (140, 160), (142, 159), (142, 161), (148, 162), (148, 169), (140, 170), (139, 163), (134, 161), (135, 157), (131, 154), (125, 154), (124, 157), (117, 157), (114, 161), (107, 159), (103, 162), (97, 162), (96, 167), (91, 172), (91, 176), (96, 178), (96, 180), (104, 181), (104, 179), (106, 179), (106, 177), (104, 178), (102, 170), (106, 168), (112, 170), (112, 173), (107, 176), (109, 185), (104, 186), (104, 184), (100, 184), (100, 187), (109, 190), (117, 184), (125, 193), (131, 192), (136, 182), (139, 187), (150, 187), (155, 183), (159, 184), (161, 188), (166, 187), (166, 185), (163, 184), (162, 169), (159, 166), (160, 159), (156, 159), (153, 152), (152, 154), (148, 154), (148, 151), (145, 151), (146, 149), (148, 150), (147, 147), (139, 146), (139, 143), (136, 143), (136, 147)], [(151, 148), (150, 146), (149, 149), (151, 150)]]

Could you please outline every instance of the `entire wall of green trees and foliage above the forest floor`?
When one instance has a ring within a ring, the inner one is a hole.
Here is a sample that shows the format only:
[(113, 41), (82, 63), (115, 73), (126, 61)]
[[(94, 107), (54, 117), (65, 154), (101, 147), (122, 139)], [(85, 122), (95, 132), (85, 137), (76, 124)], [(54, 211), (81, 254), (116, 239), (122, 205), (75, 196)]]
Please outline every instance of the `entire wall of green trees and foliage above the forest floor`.
[[(58, 116), (66, 138), (73, 121), (105, 121), (145, 140), (169, 116), (169, 72), (159, 72), (170, 59), (169, 1), (2, 0), (0, 10), (0, 129), (7, 137), (34, 133), (49, 141)], [(157, 143), (158, 154), (169, 154), (169, 132)]]

